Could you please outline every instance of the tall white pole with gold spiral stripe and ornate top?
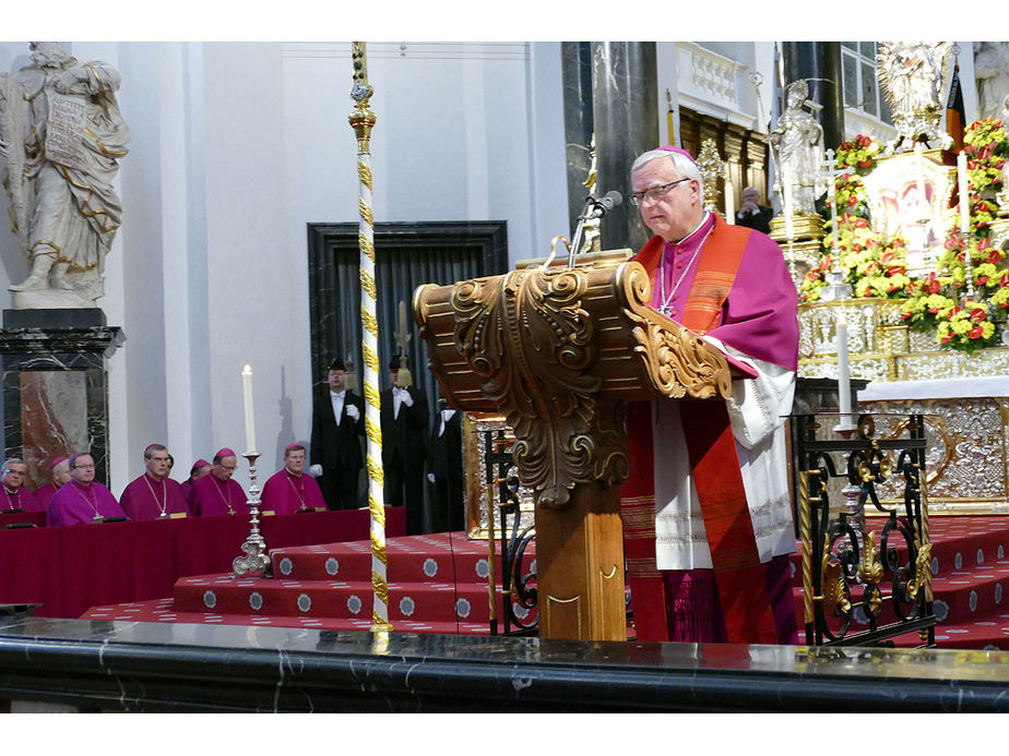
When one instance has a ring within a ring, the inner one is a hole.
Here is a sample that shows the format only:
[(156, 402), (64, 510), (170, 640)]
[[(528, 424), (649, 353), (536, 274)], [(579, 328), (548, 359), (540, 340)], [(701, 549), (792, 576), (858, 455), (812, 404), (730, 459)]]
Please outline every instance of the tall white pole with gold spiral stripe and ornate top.
[(378, 392), (378, 319), (375, 283), (375, 227), (371, 212), (371, 129), (375, 113), (368, 109), (373, 89), (368, 84), (368, 59), (365, 43), (351, 43), (354, 84), (351, 98), (357, 104), (347, 119), (357, 135), (358, 243), (360, 245), (361, 383), (365, 395), (365, 432), (367, 441), (368, 509), (371, 512), (371, 629), (391, 631), (389, 624), (389, 583), (385, 578), (385, 508), (382, 504), (382, 430), (379, 420)]

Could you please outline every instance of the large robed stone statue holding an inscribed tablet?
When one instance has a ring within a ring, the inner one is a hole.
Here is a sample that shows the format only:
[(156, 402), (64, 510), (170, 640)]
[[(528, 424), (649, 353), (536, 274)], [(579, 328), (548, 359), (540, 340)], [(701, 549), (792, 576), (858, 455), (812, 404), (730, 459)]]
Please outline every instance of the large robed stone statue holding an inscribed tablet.
[(91, 308), (120, 225), (112, 181), (130, 130), (120, 77), (81, 63), (60, 43), (31, 43), (32, 65), (0, 74), (0, 153), (13, 231), (31, 271), (11, 286), (15, 309)]

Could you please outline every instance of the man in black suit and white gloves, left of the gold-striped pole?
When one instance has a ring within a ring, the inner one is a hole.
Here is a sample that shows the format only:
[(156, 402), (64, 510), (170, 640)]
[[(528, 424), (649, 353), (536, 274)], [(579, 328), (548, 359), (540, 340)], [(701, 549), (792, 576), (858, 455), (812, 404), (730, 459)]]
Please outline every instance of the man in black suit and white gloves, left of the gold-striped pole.
[(321, 476), (322, 495), (330, 509), (355, 509), (360, 439), (365, 434), (364, 401), (346, 389), (342, 360), (330, 363), (327, 383), (329, 391), (312, 412), (311, 472)]

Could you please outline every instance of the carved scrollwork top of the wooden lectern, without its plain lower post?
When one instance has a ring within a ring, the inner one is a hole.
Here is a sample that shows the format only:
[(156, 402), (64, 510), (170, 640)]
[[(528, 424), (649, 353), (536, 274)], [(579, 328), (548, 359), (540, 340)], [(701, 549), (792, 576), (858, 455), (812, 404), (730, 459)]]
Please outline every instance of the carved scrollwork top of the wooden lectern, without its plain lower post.
[(458, 409), (501, 412), (537, 503), (629, 469), (625, 404), (731, 391), (724, 357), (651, 310), (638, 263), (531, 267), (414, 293), (428, 361)]

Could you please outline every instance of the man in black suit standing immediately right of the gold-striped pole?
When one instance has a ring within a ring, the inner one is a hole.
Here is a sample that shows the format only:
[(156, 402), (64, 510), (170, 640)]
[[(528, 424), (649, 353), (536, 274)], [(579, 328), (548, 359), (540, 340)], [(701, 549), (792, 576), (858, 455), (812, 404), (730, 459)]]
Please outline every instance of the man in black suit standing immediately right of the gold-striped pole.
[[(405, 506), (406, 535), (417, 536), (424, 532), (428, 409), (424, 394), (408, 385), (405, 367), (405, 358), (392, 358), (389, 363), (392, 386), (380, 397), (382, 476), (385, 506)], [(406, 375), (401, 375), (401, 372)]]

